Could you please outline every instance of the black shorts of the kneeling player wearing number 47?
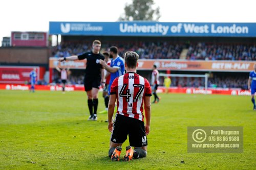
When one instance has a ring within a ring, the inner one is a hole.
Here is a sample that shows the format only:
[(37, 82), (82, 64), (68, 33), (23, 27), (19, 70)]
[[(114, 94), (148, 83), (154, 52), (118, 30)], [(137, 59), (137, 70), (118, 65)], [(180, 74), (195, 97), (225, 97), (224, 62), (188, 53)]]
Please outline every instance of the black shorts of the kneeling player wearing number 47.
[(110, 140), (114, 143), (123, 143), (129, 135), (132, 147), (145, 147), (147, 145), (144, 122), (141, 120), (116, 114)]

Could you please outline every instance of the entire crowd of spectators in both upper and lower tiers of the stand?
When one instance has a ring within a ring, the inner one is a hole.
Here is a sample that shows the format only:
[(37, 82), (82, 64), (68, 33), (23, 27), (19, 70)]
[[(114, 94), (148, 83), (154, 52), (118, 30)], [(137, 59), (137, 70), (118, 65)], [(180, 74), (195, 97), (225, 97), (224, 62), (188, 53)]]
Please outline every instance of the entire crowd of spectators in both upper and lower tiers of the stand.
[[(169, 41), (111, 41), (101, 45), (102, 51), (111, 46), (118, 46), (119, 56), (126, 51), (135, 51), (140, 59), (179, 59), (184, 48), (188, 50), (187, 60), (256, 60), (256, 47), (249, 44), (214, 44), (214, 43), (172, 43)], [(90, 51), (91, 41), (83, 43), (66, 42), (52, 47), (52, 57), (68, 57)], [(60, 83), (58, 76), (55, 83)], [(70, 84), (83, 84), (83, 76), (71, 75)], [(163, 79), (161, 80), (163, 82)], [(203, 78), (172, 78), (172, 86), (204, 87)], [(161, 84), (162, 85), (162, 84)], [(247, 78), (243, 77), (214, 77), (208, 79), (208, 87), (247, 88)]]

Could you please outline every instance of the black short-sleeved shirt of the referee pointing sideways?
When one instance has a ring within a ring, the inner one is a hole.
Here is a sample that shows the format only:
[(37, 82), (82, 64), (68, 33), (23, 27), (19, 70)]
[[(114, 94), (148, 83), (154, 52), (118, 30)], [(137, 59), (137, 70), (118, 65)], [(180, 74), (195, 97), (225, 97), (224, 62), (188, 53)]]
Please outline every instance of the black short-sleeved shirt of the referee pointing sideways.
[(86, 63), (86, 76), (99, 76), (100, 68), (102, 68), (99, 60), (104, 60), (102, 54), (94, 54), (93, 52), (87, 52), (78, 56), (79, 60), (87, 59)]

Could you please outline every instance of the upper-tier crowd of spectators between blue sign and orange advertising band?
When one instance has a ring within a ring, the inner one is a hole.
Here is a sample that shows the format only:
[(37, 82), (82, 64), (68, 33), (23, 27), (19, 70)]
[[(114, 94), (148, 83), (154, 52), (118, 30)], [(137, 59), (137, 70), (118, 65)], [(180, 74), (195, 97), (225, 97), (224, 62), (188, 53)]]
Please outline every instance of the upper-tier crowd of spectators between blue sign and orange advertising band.
[[(101, 49), (106, 51), (113, 45), (119, 48), (119, 56), (126, 51), (135, 51), (141, 59), (179, 59), (182, 50), (186, 48), (187, 60), (256, 60), (256, 46), (249, 44), (113, 41), (103, 43)], [(91, 42), (66, 42), (52, 47), (52, 57), (80, 55), (90, 51), (91, 48)]]

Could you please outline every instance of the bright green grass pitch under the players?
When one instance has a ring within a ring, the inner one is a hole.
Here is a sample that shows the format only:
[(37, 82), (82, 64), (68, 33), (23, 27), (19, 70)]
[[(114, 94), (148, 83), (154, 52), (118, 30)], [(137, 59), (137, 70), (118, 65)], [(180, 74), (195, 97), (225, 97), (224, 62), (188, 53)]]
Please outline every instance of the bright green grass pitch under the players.
[[(107, 115), (87, 120), (85, 92), (0, 90), (0, 169), (255, 169), (256, 111), (249, 96), (159, 95), (147, 157), (111, 162)], [(242, 126), (244, 152), (187, 153), (188, 126)]]

